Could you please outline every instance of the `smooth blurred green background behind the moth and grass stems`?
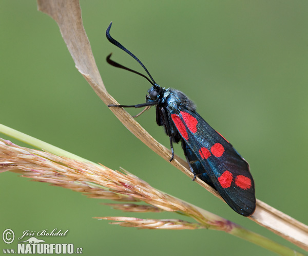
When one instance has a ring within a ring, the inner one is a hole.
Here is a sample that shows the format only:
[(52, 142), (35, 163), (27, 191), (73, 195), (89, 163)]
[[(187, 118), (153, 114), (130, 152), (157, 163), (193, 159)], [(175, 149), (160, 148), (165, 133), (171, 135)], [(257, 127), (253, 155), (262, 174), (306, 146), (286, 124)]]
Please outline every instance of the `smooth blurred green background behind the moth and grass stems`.
[[(143, 72), (106, 40), (110, 21), (112, 36), (155, 80), (194, 100), (199, 114), (249, 162), (257, 198), (308, 222), (307, 1), (106, 0), (81, 1), (81, 8), (101, 76), (118, 102), (143, 103), (150, 84), (106, 63), (113, 52), (113, 60)], [(35, 1), (1, 3), (1, 123), (109, 168), (121, 166), (157, 189), (297, 249), (233, 212), (134, 137), (79, 74), (56, 23), (36, 9)], [(138, 121), (168, 147), (155, 109)], [(183, 155), (179, 145), (175, 151)], [(92, 218), (181, 217), (175, 213), (123, 213), (10, 172), (0, 182), (1, 233), (69, 229), (65, 238), (48, 242), (73, 243), (84, 255), (274, 255), (224, 232), (137, 230)], [(5, 246), (1, 240), (1, 248), (14, 248)]]

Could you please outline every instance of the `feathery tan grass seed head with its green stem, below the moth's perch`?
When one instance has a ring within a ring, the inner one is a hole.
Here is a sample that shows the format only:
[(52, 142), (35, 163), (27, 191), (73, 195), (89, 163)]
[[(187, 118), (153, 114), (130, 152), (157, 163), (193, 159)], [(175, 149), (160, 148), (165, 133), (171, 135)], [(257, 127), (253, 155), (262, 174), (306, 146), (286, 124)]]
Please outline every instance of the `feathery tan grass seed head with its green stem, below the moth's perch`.
[[(35, 141), (37, 141), (41, 146), (43, 145), (43, 148), (49, 148), (55, 152), (58, 151), (56, 147), (48, 143), (34, 138), (31, 139), (30, 136), (24, 136), (22, 133), (0, 125), (0, 132), (4, 130), (8, 135), (11, 131), (15, 138), (20, 138), (24, 142), (35, 145)], [(114, 200), (118, 203), (108, 205), (126, 212), (159, 213), (169, 211), (189, 216), (193, 221), (142, 219), (123, 216), (96, 217), (117, 221), (115, 223), (112, 222), (112, 224), (141, 229), (214, 229), (236, 235), (282, 255), (302, 255), (264, 236), (225, 220), (214, 213), (159, 191), (127, 171), (114, 171), (102, 164), (95, 164), (86, 160), (75, 160), (80, 159), (80, 157), (68, 158), (66, 155), (74, 155), (66, 154), (63, 150), (59, 150), (59, 152), (64, 156), (20, 147), (8, 140), (0, 139), (0, 172), (17, 172), (22, 174), (23, 177), (82, 192), (92, 198)], [(140, 204), (141, 202), (147, 205)]]

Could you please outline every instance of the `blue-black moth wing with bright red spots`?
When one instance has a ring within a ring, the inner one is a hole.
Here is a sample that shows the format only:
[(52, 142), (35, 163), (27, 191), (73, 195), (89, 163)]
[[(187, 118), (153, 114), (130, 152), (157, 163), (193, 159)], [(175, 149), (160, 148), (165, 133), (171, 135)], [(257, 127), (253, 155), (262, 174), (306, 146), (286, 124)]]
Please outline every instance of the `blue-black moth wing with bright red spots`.
[(244, 158), (198, 113), (182, 107), (182, 111), (168, 114), (182, 137), (190, 168), (234, 211), (252, 215), (256, 208), (255, 185)]

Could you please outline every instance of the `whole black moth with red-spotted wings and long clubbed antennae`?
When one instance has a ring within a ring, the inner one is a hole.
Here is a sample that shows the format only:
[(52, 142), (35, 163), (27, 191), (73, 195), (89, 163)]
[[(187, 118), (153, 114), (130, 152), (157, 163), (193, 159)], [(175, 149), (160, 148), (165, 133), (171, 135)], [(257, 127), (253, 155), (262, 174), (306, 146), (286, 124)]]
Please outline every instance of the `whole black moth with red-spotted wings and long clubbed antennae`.
[(146, 95), (146, 103), (138, 105), (109, 105), (109, 107), (146, 107), (156, 106), (156, 122), (164, 126), (172, 142), (182, 142), (185, 157), (191, 172), (215, 188), (225, 202), (243, 216), (252, 215), (256, 209), (255, 185), (249, 172), (248, 163), (224, 137), (215, 131), (196, 112), (194, 102), (176, 89), (160, 87), (151, 77), (142, 62), (114, 40), (110, 34), (111, 24), (106, 36), (109, 42), (118, 46), (133, 57), (147, 72), (150, 79), (137, 71), (129, 69), (107, 57), (107, 62), (115, 67), (123, 68), (146, 78), (152, 87)]

